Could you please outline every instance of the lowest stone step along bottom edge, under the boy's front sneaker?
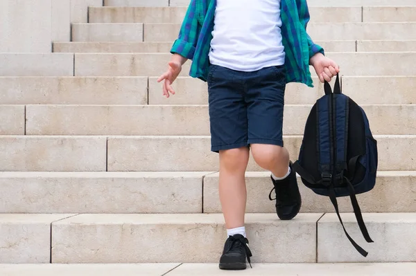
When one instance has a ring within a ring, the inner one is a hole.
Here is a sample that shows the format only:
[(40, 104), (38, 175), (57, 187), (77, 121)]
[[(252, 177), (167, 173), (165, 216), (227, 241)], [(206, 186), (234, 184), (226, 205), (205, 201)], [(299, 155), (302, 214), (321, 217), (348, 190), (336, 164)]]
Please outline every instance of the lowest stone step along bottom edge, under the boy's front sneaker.
[[(153, 0), (155, 1), (155, 0)], [(239, 272), (251, 276), (413, 276), (414, 263), (372, 264), (252, 264)], [(0, 273), (7, 276), (218, 276), (229, 275), (229, 271), (212, 264), (3, 264)]]

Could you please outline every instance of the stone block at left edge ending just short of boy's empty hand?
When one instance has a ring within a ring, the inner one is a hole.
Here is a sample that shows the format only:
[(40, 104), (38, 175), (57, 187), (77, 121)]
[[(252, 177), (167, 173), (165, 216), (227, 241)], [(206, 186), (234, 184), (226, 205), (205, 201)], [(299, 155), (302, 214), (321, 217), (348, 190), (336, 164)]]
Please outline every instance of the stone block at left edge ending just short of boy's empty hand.
[(0, 77), (3, 104), (147, 104), (147, 77)]

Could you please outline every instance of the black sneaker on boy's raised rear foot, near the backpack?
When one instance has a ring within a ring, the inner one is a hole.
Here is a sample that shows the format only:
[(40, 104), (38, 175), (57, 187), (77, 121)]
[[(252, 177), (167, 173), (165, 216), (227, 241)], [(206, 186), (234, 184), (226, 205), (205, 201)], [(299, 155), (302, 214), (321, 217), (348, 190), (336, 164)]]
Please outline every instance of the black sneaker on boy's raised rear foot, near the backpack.
[[(277, 217), (281, 220), (289, 220), (296, 217), (302, 205), (299, 187), (297, 187), (296, 172), (290, 164), (291, 174), (280, 181), (275, 181), (272, 177), (272, 182), (275, 187), (270, 191), (270, 201), (276, 200)], [(275, 190), (276, 198), (272, 199), (272, 192)]]

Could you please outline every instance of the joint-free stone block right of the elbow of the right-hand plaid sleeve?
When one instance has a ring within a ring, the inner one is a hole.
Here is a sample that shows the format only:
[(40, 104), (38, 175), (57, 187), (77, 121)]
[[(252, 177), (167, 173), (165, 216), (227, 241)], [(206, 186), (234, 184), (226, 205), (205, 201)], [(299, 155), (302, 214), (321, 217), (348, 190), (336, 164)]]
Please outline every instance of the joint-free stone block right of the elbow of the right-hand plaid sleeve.
[(416, 39), (415, 28), (415, 22), (309, 24), (308, 33), (314, 40), (404, 40)]

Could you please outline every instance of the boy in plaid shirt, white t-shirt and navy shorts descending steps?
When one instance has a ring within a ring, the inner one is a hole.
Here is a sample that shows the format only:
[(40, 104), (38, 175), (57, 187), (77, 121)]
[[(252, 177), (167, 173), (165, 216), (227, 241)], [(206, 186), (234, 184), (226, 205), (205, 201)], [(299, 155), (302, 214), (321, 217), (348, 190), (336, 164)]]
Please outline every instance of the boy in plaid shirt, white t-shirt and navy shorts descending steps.
[(245, 269), (252, 253), (245, 235), (245, 169), (249, 148), (271, 172), (279, 219), (293, 219), (301, 197), (289, 154), (283, 147), (284, 91), (288, 82), (312, 85), (309, 65), (321, 82), (338, 65), (306, 33), (306, 0), (191, 0), (168, 70), (163, 93), (182, 64), (193, 59), (191, 77), (208, 82), (211, 151), (219, 154), (220, 202), (227, 240), (221, 269)]

